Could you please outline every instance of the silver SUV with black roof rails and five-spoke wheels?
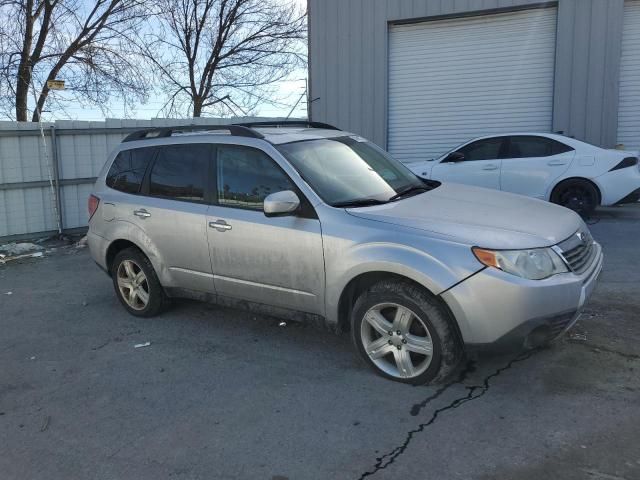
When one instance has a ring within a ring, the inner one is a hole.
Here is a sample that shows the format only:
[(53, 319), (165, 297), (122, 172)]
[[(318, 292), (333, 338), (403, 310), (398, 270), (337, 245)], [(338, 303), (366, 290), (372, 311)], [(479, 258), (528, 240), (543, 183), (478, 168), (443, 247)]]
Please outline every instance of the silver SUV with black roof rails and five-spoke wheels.
[(89, 200), (89, 245), (131, 314), (188, 297), (351, 331), (406, 383), (466, 350), (566, 331), (602, 251), (574, 212), (416, 177), (318, 123), (136, 132)]

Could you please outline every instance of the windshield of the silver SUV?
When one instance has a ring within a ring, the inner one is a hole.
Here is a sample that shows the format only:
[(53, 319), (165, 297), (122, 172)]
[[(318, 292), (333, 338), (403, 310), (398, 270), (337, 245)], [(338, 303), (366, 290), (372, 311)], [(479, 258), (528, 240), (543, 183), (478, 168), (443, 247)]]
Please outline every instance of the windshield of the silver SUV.
[(358, 137), (308, 140), (277, 148), (334, 207), (382, 204), (432, 188), (402, 163)]

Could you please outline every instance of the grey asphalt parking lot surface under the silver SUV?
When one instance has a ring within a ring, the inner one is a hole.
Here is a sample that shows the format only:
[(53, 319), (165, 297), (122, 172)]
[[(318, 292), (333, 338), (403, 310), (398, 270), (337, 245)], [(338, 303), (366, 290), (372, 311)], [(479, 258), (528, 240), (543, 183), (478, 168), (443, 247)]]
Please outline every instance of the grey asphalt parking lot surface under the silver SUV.
[(86, 249), (0, 265), (0, 478), (640, 479), (640, 205), (591, 223), (605, 269), (570, 335), (433, 387), (348, 335), (134, 318)]

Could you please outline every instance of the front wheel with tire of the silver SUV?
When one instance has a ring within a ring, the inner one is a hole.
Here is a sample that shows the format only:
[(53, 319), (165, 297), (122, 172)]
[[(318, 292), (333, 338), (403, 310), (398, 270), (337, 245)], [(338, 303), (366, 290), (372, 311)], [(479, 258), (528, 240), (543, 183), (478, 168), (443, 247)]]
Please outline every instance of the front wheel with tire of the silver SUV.
[(382, 281), (363, 292), (352, 310), (351, 335), (378, 374), (412, 385), (447, 379), (463, 358), (449, 314), (409, 282)]

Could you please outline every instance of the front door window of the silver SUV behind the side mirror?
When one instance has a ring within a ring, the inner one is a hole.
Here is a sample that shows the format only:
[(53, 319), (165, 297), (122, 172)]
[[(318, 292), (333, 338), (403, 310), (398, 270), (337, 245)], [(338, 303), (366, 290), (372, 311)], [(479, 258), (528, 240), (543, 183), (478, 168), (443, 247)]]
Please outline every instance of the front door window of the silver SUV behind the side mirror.
[(218, 203), (262, 210), (267, 195), (292, 190), (291, 180), (267, 154), (245, 147), (218, 146)]

